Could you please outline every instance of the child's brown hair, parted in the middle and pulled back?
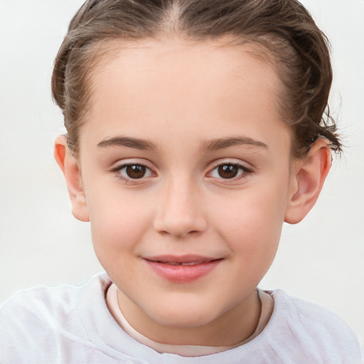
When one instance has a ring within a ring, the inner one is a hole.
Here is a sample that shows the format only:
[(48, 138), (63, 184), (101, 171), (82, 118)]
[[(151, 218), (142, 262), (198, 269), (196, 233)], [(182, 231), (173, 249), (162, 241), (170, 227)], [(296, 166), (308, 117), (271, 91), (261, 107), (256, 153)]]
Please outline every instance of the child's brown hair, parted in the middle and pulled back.
[[(53, 99), (62, 109), (70, 149), (90, 102), (90, 68), (112, 40), (143, 40), (165, 33), (195, 40), (230, 36), (261, 45), (284, 85), (284, 121), (293, 131), (292, 153), (302, 157), (317, 137), (341, 151), (328, 112), (332, 82), (329, 43), (296, 0), (87, 0), (73, 17), (55, 59)], [(273, 57), (272, 57), (273, 55)]]

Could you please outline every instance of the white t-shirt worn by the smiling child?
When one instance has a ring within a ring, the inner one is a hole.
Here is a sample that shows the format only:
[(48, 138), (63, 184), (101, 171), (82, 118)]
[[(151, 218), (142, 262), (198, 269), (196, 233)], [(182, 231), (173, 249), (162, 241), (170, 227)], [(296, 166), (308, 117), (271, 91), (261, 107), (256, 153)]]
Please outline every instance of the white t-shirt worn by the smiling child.
[(363, 364), (348, 325), (321, 306), (269, 291), (272, 316), (252, 341), (198, 357), (159, 353), (129, 336), (107, 309), (106, 274), (82, 287), (20, 291), (0, 307), (1, 364)]

